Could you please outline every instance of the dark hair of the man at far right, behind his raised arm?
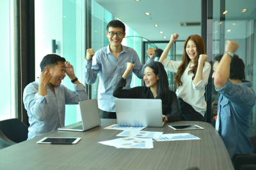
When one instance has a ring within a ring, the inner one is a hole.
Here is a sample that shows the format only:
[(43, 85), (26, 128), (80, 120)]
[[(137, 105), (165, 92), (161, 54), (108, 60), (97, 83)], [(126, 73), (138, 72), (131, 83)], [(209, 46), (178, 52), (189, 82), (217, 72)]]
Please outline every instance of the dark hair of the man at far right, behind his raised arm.
[[(218, 55), (214, 57), (216, 61), (220, 63), (221, 58), (223, 55)], [(230, 63), (230, 79), (234, 80), (244, 80), (245, 73), (244, 73), (244, 62), (242, 59), (238, 57), (238, 55), (234, 55)]]

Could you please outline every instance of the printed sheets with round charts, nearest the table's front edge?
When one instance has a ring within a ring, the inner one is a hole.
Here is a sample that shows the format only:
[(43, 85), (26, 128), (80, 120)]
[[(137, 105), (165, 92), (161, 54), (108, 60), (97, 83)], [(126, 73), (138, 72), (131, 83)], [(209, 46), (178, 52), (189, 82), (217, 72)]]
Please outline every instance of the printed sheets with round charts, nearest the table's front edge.
[(141, 149), (151, 149), (153, 147), (153, 140), (150, 139), (141, 139), (141, 138), (118, 138), (109, 141), (99, 142), (103, 145), (114, 146), (116, 148), (141, 148)]

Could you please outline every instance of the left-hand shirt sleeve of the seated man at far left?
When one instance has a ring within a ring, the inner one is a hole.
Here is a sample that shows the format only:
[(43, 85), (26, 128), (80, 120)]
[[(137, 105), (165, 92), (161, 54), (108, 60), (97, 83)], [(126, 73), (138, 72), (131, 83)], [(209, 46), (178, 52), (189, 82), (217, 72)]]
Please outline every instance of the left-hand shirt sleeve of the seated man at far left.
[(29, 84), (24, 89), (23, 103), (28, 115), (31, 114), (36, 120), (44, 121), (48, 114), (49, 96), (38, 94), (38, 87)]

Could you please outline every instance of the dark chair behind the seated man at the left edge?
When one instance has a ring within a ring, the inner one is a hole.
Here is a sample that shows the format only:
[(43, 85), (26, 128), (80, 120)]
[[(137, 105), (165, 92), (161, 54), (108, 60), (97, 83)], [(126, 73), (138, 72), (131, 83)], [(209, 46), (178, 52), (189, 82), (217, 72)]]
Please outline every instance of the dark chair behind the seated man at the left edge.
[(28, 126), (19, 118), (0, 121), (0, 149), (26, 141), (28, 139)]

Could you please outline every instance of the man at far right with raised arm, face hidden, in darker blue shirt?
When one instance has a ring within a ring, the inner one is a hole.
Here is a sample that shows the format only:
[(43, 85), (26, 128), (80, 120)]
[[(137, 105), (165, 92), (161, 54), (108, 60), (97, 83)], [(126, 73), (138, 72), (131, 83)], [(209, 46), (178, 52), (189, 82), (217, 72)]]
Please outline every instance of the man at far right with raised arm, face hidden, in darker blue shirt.
[(255, 105), (252, 82), (244, 80), (244, 62), (234, 55), (239, 45), (228, 41), (225, 53), (214, 59), (215, 90), (220, 92), (216, 130), (227, 148), (230, 158), (234, 154), (253, 153), (248, 130), (250, 115)]

